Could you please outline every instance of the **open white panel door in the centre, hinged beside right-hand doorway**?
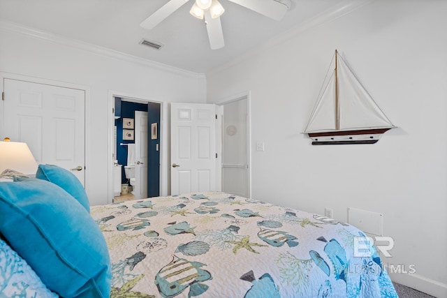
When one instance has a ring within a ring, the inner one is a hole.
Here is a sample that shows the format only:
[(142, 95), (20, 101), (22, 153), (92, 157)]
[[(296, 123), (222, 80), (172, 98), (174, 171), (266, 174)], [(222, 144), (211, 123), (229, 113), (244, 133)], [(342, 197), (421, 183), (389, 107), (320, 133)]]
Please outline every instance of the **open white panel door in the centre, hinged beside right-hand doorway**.
[(216, 190), (216, 106), (170, 105), (171, 195)]

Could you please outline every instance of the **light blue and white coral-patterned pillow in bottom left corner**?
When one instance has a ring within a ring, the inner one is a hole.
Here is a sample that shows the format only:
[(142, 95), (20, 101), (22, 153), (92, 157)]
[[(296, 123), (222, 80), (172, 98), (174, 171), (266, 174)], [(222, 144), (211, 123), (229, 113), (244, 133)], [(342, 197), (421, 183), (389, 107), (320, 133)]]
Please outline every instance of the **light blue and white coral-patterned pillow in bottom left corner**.
[(0, 296), (58, 298), (25, 260), (0, 239)]

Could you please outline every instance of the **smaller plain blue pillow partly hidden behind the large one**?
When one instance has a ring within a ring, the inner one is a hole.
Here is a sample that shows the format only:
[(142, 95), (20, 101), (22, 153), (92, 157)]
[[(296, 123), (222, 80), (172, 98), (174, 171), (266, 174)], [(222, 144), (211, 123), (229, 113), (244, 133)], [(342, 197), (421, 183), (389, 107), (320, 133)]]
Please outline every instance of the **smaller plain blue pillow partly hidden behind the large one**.
[(36, 178), (50, 181), (64, 188), (67, 193), (71, 194), (73, 198), (78, 200), (90, 212), (87, 193), (85, 193), (85, 189), (79, 179), (70, 171), (57, 165), (39, 165)]

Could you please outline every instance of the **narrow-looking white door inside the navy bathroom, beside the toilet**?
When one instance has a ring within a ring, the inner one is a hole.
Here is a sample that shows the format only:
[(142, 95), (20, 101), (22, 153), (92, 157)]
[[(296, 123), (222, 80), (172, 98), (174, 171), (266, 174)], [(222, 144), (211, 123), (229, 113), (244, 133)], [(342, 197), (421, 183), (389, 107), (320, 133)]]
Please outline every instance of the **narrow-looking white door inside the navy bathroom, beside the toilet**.
[(147, 197), (147, 112), (135, 111), (135, 200)]

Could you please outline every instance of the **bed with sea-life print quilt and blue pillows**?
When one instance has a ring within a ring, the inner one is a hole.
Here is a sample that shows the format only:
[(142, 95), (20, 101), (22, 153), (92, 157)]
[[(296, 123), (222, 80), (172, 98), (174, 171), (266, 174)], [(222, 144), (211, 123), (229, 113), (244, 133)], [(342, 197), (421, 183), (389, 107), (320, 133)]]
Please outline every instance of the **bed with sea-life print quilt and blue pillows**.
[[(71, 191), (71, 202), (50, 185), (56, 185), (54, 179), (24, 180), (17, 181), (22, 185), (0, 183), (0, 210), (6, 208), (3, 198), (8, 195), (14, 197), (11, 202), (20, 204), (27, 195), (33, 207), (42, 200), (62, 204), (52, 206), (48, 212), (53, 224), (45, 225), (59, 229), (68, 221), (69, 229), (75, 230), (63, 232), (71, 235), (69, 244), (54, 248), (59, 238), (45, 240), (47, 246), (53, 243), (45, 250), (65, 254), (51, 264), (75, 263), (69, 269), (76, 272), (69, 272), (73, 276), (63, 281), (57, 274), (55, 285), (52, 278), (56, 277), (47, 276), (53, 274), (47, 269), (50, 261), (42, 264), (41, 255), (27, 252), (30, 244), (23, 248), (11, 236), (27, 219), (11, 222), (0, 216), (3, 241), (47, 287), (45, 295), (23, 297), (57, 297), (61, 291), (68, 291), (62, 297), (108, 297), (109, 292), (110, 297), (397, 297), (376, 249), (365, 245), (365, 234), (331, 218), (220, 192), (90, 207), (85, 198), (74, 198), (73, 189), (56, 186), (64, 188), (64, 193)], [(50, 188), (52, 195), (43, 199)], [(66, 200), (73, 204), (67, 207)], [(67, 209), (79, 212), (69, 217), (61, 214)], [(10, 225), (14, 228), (8, 229)], [(42, 234), (40, 226), (26, 229)], [(362, 244), (360, 249), (358, 244)], [(72, 246), (79, 247), (66, 252)], [(66, 285), (59, 285), (64, 281)], [(72, 283), (77, 284), (75, 289), (64, 288)], [(0, 286), (4, 287), (4, 278)]]

